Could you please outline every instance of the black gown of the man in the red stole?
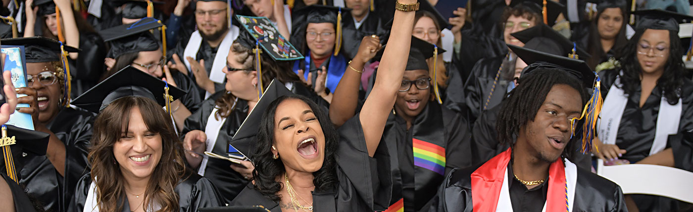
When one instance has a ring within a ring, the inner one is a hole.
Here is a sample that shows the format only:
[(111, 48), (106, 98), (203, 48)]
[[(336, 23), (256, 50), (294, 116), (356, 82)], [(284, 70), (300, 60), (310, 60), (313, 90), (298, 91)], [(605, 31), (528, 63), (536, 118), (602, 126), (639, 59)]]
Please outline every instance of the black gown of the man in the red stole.
[[(430, 211), (473, 211), (471, 175), (479, 167), (450, 171), (431, 200)], [(507, 168), (507, 165), (503, 168)], [(617, 184), (581, 168), (577, 168), (576, 181), (571, 211), (627, 211), (623, 193)]]

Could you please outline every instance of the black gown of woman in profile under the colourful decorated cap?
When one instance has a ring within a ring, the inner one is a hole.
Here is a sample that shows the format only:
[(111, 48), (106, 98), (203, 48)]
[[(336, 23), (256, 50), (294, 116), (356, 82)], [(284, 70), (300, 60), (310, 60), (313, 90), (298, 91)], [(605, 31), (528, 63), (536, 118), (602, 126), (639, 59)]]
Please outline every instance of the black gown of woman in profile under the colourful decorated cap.
[[(207, 121), (209, 115), (211, 114), (213, 108), (215, 107), (215, 102), (218, 98), (222, 98), (226, 94), (226, 91), (219, 91), (212, 96), (209, 96), (207, 100), (204, 100), (200, 104), (200, 109), (194, 112), (185, 120), (185, 126), (181, 135), (184, 137), (186, 133), (192, 130), (202, 130), (204, 131), (207, 127)], [(248, 116), (248, 104), (246, 100), (238, 99), (236, 102), (236, 107), (234, 111), (226, 118), (217, 135), (216, 143), (212, 148), (211, 152), (220, 155), (226, 155), (228, 150), (229, 141), (234, 137), (240, 124), (245, 121), (245, 117)], [(244, 179), (239, 173), (231, 169), (231, 161), (226, 161), (222, 159), (209, 158), (207, 161), (207, 168), (204, 170), (204, 176), (209, 179), (221, 193), (221, 197), (225, 203), (234, 200), (234, 197), (240, 193), (248, 183), (247, 179)]]

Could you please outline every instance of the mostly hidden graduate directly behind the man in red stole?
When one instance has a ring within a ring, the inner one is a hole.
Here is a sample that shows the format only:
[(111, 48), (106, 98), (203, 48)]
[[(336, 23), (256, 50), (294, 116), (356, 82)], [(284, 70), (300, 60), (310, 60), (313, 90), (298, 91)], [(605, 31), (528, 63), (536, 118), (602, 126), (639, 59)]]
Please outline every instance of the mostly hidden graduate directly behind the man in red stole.
[[(570, 40), (563, 37), (546, 24), (528, 28), (517, 33), (511, 34), (520, 42), (525, 43), (525, 48), (543, 53), (549, 53), (559, 56), (574, 56), (581, 60), (590, 58), (590, 55), (579, 47), (575, 47)], [(574, 48), (574, 49), (573, 49)], [(573, 52), (575, 51), (575, 52)], [(523, 69), (527, 67), (527, 63), (522, 58), (516, 58), (515, 69), (513, 71), (502, 73), (501, 78), (508, 81), (507, 87), (504, 90), (498, 90), (497, 95), (506, 96), (516, 86), (516, 78), (520, 77)], [(481, 112), (477, 120), (474, 122), (472, 129), (472, 148), (473, 164), (482, 164), (500, 152), (509, 148), (507, 143), (498, 142), (498, 132), (495, 130), (495, 123), (498, 118), (501, 104), (491, 107), (491, 109)], [(573, 161), (578, 164), (578, 167), (590, 169), (588, 157), (580, 157), (580, 161)], [(578, 163), (582, 162), (582, 163)]]

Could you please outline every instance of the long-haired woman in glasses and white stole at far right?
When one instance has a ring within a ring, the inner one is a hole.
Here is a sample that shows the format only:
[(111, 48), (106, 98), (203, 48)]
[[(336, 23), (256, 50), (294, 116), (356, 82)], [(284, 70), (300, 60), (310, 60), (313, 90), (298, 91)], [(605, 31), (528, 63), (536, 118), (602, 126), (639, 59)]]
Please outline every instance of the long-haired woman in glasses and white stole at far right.
[[(680, 136), (693, 130), (693, 82), (684, 77), (678, 38), (678, 23), (693, 17), (663, 10), (635, 13), (640, 19), (622, 66), (599, 72), (605, 98), (595, 155), (693, 171), (691, 141)], [(632, 197), (640, 211), (678, 210), (677, 201), (666, 197)]]

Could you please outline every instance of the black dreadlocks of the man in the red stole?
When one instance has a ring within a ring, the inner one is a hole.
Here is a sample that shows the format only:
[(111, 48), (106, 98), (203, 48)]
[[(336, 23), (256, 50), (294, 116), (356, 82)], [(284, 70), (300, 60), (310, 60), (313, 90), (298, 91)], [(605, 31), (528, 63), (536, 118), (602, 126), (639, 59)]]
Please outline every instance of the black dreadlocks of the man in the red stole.
[[(534, 121), (536, 113), (544, 104), (546, 96), (555, 85), (568, 85), (580, 93), (581, 103), (587, 103), (588, 94), (581, 80), (559, 68), (536, 68), (532, 72), (523, 73), (518, 79), (518, 87), (510, 91), (501, 103), (495, 129), (498, 130), (498, 141), (503, 144), (515, 145), (520, 130), (529, 121)], [(579, 134), (579, 132), (575, 132)], [(572, 157), (575, 152), (575, 142), (579, 136), (573, 136), (563, 150), (563, 157)]]

